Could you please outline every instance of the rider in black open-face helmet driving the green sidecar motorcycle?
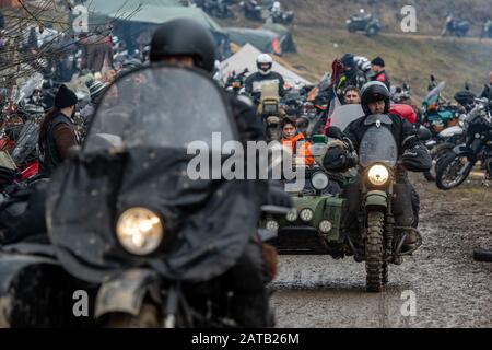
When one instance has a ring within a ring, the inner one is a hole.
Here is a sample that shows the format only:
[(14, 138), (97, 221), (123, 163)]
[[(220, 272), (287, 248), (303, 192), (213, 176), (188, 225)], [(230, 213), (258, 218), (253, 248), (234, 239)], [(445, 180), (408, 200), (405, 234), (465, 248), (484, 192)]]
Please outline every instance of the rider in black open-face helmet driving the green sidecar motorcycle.
[[(374, 114), (388, 114), (390, 107), (390, 93), (386, 85), (382, 82), (370, 82), (364, 85), (361, 91), (361, 104), (365, 115), (352, 121), (343, 131), (353, 144), (355, 152), (359, 151), (362, 138), (367, 129), (371, 127), (364, 121), (367, 116)], [(399, 158), (402, 161), (402, 166), (398, 167), (399, 180), (411, 189), (412, 209), (413, 209), (413, 226), (417, 228), (419, 223), (420, 198), (413, 186), (408, 179), (407, 171), (425, 172), (431, 168), (432, 159), (425, 145), (418, 139), (413, 138), (413, 126), (397, 115), (390, 115), (393, 124), (388, 126), (395, 141), (398, 145)], [(385, 126), (386, 127), (386, 126)], [(344, 147), (335, 147), (327, 152), (324, 159), (324, 166), (327, 170), (342, 172), (349, 170), (358, 164), (356, 155), (350, 154)], [(349, 206), (352, 208), (350, 218), (354, 219), (354, 211), (356, 212), (360, 200), (353, 200)], [(352, 207), (353, 206), (353, 207)], [(409, 234), (403, 246), (408, 250), (417, 243), (417, 235)]]

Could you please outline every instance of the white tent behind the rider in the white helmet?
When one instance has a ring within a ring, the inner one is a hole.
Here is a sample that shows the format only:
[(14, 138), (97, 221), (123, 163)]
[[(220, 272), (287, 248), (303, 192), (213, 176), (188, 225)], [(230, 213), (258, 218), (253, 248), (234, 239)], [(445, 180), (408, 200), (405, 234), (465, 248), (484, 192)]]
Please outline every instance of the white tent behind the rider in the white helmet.
[[(221, 77), (225, 80), (233, 71), (241, 73), (245, 68), (249, 70), (249, 74), (256, 72), (256, 58), (261, 51), (250, 44), (246, 44), (235, 55), (231, 56), (226, 60), (220, 63), (219, 70)], [(312, 85), (307, 80), (297, 75), (293, 71), (286, 69), (278, 62), (273, 62), (273, 71), (280, 73), (285, 82), (290, 85), (295, 85), (297, 82), (301, 84)]]

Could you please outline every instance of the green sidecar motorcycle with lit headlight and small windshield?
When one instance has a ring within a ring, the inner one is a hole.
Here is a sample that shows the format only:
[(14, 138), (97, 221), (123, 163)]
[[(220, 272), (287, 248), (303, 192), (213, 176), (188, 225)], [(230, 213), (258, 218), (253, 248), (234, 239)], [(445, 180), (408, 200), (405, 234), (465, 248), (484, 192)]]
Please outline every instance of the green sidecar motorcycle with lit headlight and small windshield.
[[(351, 151), (353, 147), (342, 136), (340, 127), (360, 117), (354, 114), (354, 107), (349, 105), (336, 110), (327, 130), (330, 142), (342, 141)], [(268, 218), (263, 224), (278, 230), (272, 243), (281, 254), (326, 254), (336, 259), (353, 256), (358, 262), (365, 261), (367, 291), (379, 292), (388, 281), (388, 265), (402, 264), (403, 256), (419, 248), (422, 237), (412, 226), (410, 190), (398, 182), (395, 139), (382, 127), (391, 119), (374, 115), (366, 122), (372, 127), (359, 150), (359, 171), (335, 174), (321, 166), (307, 170), (305, 188), (291, 192), (296, 209), (279, 220)], [(413, 136), (421, 140), (429, 137), (426, 130), (415, 130)], [(326, 142), (323, 139), (323, 136), (315, 136), (313, 141), (312, 153), (317, 164), (330, 148), (329, 142), (323, 150), (320, 144)], [(403, 250), (410, 233), (418, 236), (418, 243)]]

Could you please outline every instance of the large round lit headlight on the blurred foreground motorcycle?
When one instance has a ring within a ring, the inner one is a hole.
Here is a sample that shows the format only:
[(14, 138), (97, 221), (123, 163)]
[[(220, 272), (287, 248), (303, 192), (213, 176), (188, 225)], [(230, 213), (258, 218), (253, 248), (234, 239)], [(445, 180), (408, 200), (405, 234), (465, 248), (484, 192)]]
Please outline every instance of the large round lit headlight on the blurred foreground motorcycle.
[(116, 236), (134, 255), (149, 255), (161, 245), (164, 229), (157, 214), (145, 208), (131, 208), (118, 218)]

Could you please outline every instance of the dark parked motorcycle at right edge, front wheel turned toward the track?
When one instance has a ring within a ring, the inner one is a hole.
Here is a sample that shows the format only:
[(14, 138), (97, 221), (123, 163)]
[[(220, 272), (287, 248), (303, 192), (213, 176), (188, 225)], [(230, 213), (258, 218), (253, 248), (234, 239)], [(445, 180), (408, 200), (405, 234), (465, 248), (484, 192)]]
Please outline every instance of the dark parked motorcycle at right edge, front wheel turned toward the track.
[(436, 164), (436, 185), (449, 190), (461, 185), (481, 161), (485, 178), (492, 177), (492, 114), (489, 100), (477, 100), (477, 106), (464, 121), (465, 142), (442, 156)]

